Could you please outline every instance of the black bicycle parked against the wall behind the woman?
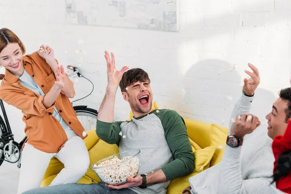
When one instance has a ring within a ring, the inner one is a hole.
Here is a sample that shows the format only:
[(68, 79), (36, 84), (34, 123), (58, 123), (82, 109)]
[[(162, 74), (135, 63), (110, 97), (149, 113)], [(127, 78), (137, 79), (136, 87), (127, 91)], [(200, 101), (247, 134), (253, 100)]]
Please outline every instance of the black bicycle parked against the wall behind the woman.
[[(68, 65), (67, 68), (73, 70), (72, 73), (68, 74), (68, 77), (71, 77), (77, 74), (78, 77), (85, 78), (84, 76), (81, 75), (77, 67)], [(0, 80), (2, 80), (4, 76), (5, 75), (0, 74)], [(85, 79), (90, 81), (87, 78)], [(85, 97), (90, 96), (94, 90), (94, 84), (92, 81), (90, 82), (93, 86), (92, 91), (90, 92), (90, 94), (88, 94)], [(73, 102), (84, 99), (85, 97), (74, 100), (71, 103), (73, 104)], [(18, 162), (17, 167), (20, 168), (21, 167), (21, 153), (22, 153), (21, 147), (23, 146), (27, 137), (25, 136), (19, 143), (14, 141), (14, 135), (12, 133), (12, 130), (8, 121), (8, 117), (5, 111), (5, 107), (1, 99), (0, 99), (0, 107), (4, 116), (4, 119), (3, 119), (2, 116), (0, 115), (0, 165), (4, 161), (10, 162), (10, 163)], [(77, 117), (85, 130), (91, 130), (96, 127), (97, 115), (98, 115), (97, 110), (88, 108), (87, 106), (73, 106), (73, 108), (75, 112), (77, 113)]]

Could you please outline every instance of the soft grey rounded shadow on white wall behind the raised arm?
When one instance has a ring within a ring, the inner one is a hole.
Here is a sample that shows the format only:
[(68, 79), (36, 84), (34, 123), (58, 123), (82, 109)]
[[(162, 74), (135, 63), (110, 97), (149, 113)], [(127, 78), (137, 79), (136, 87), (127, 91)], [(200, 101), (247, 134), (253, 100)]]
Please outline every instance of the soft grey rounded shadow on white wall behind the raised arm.
[[(186, 72), (182, 84), (185, 95), (178, 108), (182, 116), (228, 127), (234, 104), (242, 95), (243, 81), (235, 66), (216, 59), (199, 61)], [(258, 88), (251, 113), (264, 123), (275, 98), (272, 92)]]

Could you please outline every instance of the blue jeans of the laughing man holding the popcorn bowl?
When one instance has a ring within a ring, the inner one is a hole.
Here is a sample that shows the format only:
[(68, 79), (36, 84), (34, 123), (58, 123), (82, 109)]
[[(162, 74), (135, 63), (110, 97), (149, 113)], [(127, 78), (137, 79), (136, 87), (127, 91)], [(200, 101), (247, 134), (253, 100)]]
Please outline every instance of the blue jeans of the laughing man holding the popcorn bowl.
[(105, 186), (104, 182), (98, 184), (64, 184), (57, 186), (41, 187), (26, 191), (22, 194), (136, 194), (130, 189), (112, 189)]

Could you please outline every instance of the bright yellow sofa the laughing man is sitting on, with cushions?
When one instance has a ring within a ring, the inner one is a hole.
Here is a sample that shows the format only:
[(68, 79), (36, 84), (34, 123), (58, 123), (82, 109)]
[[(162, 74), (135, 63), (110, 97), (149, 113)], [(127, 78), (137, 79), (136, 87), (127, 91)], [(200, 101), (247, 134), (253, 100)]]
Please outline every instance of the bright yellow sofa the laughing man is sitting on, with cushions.
[[(156, 102), (153, 103), (153, 108), (158, 109)], [(190, 177), (221, 161), (225, 149), (227, 137), (226, 128), (187, 118), (184, 118), (184, 120), (195, 157), (194, 171), (190, 175), (172, 180), (167, 194), (181, 194), (189, 186), (188, 179)], [(99, 139), (95, 129), (88, 131), (88, 137), (84, 139), (84, 142), (89, 152), (90, 166), (78, 183), (98, 183), (100, 179), (92, 170), (91, 165), (102, 158), (117, 153), (119, 148), (116, 145), (107, 144)], [(64, 164), (62, 162), (56, 158), (52, 158), (44, 175), (41, 187), (48, 186), (63, 168)]]

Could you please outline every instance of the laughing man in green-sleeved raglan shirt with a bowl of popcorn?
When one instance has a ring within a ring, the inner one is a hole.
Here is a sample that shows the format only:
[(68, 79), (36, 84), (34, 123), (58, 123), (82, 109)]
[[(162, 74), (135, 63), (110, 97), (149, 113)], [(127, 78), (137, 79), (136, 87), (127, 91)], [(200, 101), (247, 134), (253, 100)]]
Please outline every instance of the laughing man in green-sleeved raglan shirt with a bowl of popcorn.
[[(97, 117), (96, 133), (100, 139), (119, 146), (120, 151), (139, 149), (139, 175), (121, 185), (66, 184), (38, 188), (25, 194), (165, 194), (174, 178), (194, 170), (194, 156), (183, 118), (172, 110), (152, 110), (152, 91), (147, 73), (140, 69), (120, 71), (105, 52), (108, 85)], [(130, 121), (113, 122), (118, 84), (129, 102)], [(121, 136), (122, 134), (122, 136)], [(123, 138), (124, 137), (124, 138)]]

